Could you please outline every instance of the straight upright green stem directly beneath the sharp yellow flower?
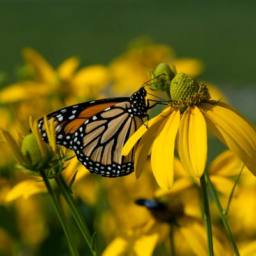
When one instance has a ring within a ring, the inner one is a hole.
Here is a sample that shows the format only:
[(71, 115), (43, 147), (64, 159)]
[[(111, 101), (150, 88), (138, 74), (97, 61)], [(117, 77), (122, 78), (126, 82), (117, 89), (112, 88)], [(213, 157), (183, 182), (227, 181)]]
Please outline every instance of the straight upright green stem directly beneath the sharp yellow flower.
[(209, 210), (209, 201), (206, 191), (206, 178), (204, 174), (200, 177), (200, 190), (201, 190), (201, 198), (204, 209), (204, 222), (206, 224), (206, 234), (207, 234), (207, 249), (208, 255), (213, 256), (213, 232), (211, 231), (211, 216)]

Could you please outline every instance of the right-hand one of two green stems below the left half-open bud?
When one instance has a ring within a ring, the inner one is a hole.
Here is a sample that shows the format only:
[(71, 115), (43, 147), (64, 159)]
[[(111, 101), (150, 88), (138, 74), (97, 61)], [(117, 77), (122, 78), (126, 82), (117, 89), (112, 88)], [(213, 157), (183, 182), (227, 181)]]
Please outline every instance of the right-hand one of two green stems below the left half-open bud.
[(59, 190), (61, 191), (64, 199), (66, 200), (66, 203), (68, 204), (68, 207), (70, 207), (70, 211), (72, 213), (72, 216), (77, 223), (77, 226), (80, 229), (80, 232), (82, 233), (82, 236), (86, 240), (87, 245), (89, 246), (91, 253), (93, 256), (96, 256), (96, 252), (93, 248), (93, 241), (91, 234), (87, 228), (86, 222), (84, 221), (84, 218), (82, 216), (82, 213), (77, 207), (77, 204), (75, 202), (75, 199), (73, 198), (72, 194), (70, 193), (70, 188), (68, 188), (68, 185), (63, 179), (63, 176), (61, 174), (57, 175), (55, 177), (57, 186)]

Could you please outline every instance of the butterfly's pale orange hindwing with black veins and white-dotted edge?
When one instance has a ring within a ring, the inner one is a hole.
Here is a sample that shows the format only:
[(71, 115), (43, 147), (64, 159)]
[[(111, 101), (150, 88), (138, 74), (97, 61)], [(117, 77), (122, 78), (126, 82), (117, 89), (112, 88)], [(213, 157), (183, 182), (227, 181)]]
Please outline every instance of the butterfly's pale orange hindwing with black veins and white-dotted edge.
[(90, 172), (117, 177), (133, 172), (133, 151), (122, 156), (129, 137), (142, 124), (131, 114), (128, 100), (116, 103), (87, 119), (73, 134), (72, 149)]

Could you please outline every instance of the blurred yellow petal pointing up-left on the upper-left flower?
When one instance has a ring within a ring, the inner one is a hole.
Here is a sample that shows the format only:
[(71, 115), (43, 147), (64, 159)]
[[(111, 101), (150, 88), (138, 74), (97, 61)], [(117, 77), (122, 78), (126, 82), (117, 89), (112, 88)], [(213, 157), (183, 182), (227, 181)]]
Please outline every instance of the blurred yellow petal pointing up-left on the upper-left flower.
[(33, 68), (38, 81), (45, 82), (47, 84), (56, 83), (57, 77), (54, 69), (38, 52), (36, 52), (36, 50), (26, 48), (22, 51), (22, 56)]

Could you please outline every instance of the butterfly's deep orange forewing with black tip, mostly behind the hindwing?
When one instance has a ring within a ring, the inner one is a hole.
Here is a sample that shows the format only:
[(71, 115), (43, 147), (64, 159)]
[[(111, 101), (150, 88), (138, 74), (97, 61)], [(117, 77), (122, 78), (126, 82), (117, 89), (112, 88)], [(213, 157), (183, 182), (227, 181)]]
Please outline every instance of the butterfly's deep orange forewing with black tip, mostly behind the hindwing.
[[(56, 130), (56, 143), (72, 149), (73, 134), (84, 124), (87, 119), (108, 107), (119, 102), (127, 101), (129, 98), (107, 98), (95, 100), (93, 102), (84, 102), (64, 109), (57, 110), (47, 115), (47, 119), (54, 118), (54, 127)], [(48, 142), (43, 124), (43, 118), (38, 120), (38, 127), (45, 142)]]

